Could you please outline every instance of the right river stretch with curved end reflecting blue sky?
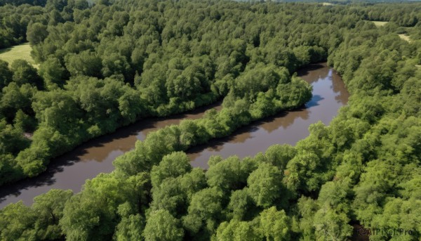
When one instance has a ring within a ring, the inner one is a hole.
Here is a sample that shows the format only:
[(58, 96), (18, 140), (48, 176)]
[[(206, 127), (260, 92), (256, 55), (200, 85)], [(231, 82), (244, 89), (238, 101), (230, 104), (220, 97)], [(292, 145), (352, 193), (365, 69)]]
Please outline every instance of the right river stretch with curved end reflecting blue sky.
[(329, 124), (338, 109), (346, 105), (349, 93), (342, 78), (326, 63), (309, 65), (298, 71), (298, 76), (313, 86), (313, 98), (302, 110), (281, 112), (245, 126), (232, 136), (210, 141), (189, 150), (194, 167), (208, 167), (211, 155), (239, 157), (254, 156), (276, 143), (295, 145), (309, 135), (310, 124), (319, 120)]

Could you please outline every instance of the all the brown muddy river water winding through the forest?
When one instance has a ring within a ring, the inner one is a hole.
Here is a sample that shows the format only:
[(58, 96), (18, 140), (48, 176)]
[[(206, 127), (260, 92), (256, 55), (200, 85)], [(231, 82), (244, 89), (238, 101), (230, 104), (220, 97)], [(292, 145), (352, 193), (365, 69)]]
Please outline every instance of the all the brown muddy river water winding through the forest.
[[(305, 108), (281, 112), (274, 117), (253, 122), (234, 132), (232, 136), (190, 149), (188, 155), (192, 159), (192, 165), (206, 168), (211, 155), (246, 157), (262, 152), (276, 143), (294, 145), (308, 136), (310, 124), (319, 120), (329, 124), (338, 109), (348, 101), (349, 93), (342, 79), (335, 70), (327, 67), (326, 63), (309, 65), (300, 70), (298, 75), (313, 86), (313, 98)], [(0, 208), (19, 200), (25, 204), (32, 204), (34, 197), (52, 188), (71, 189), (77, 193), (86, 179), (111, 172), (114, 169), (112, 161), (133, 149), (135, 141), (144, 140), (150, 131), (178, 124), (182, 119), (198, 119), (210, 108), (221, 107), (220, 104), (215, 104), (185, 115), (145, 119), (118, 129), (115, 133), (88, 141), (75, 150), (53, 159), (44, 174), (1, 187)]]

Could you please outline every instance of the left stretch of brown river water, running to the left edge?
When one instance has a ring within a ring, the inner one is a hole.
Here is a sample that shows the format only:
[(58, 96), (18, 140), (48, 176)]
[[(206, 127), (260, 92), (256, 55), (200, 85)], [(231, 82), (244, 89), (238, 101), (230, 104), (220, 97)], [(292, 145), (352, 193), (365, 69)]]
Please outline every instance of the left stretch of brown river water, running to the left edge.
[(135, 148), (136, 141), (145, 140), (147, 133), (171, 124), (179, 124), (182, 119), (199, 119), (206, 110), (222, 108), (220, 104), (215, 103), (168, 118), (143, 119), (130, 126), (122, 127), (115, 133), (83, 143), (71, 152), (53, 159), (48, 169), (39, 176), (2, 186), (0, 208), (19, 200), (28, 205), (32, 204), (34, 197), (53, 188), (71, 189), (78, 193), (86, 179), (113, 171), (112, 161), (124, 152)]

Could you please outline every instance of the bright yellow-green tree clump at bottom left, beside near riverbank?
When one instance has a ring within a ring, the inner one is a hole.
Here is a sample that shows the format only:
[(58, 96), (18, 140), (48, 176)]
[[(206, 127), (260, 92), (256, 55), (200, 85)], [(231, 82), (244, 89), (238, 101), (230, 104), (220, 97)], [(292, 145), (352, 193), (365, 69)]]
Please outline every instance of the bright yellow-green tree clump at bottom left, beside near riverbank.
[(133, 211), (128, 214), (135, 215), (140, 208), (138, 204), (146, 198), (148, 182), (146, 174), (125, 179), (102, 174), (87, 181), (83, 193), (74, 195), (66, 204), (60, 227), (69, 239), (103, 240), (111, 237), (121, 219), (117, 214), (123, 208), (121, 205), (129, 205)]

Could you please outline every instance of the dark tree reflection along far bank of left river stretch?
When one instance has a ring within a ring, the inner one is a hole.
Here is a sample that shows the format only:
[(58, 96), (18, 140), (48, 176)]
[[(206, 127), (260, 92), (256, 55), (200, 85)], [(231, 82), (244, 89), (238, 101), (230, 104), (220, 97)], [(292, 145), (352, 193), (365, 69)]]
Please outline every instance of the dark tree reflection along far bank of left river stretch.
[[(103, 160), (107, 159), (109, 153), (112, 151), (121, 150), (121, 145), (130, 145), (129, 147), (124, 147), (124, 150), (134, 148), (135, 141), (138, 140), (137, 136), (139, 133), (145, 130), (159, 129), (157, 126), (160, 126), (159, 124), (161, 122), (172, 124), (173, 122), (178, 123), (182, 119), (196, 119), (201, 117), (203, 112), (210, 108), (220, 108), (220, 102), (208, 106), (203, 106), (193, 111), (173, 115), (171, 117), (150, 117), (141, 119), (138, 122), (117, 129), (114, 133), (108, 133), (104, 136), (86, 141), (86, 143), (77, 146), (73, 150), (70, 150), (63, 155), (51, 159), (51, 162), (48, 164), (46, 171), (41, 173), (39, 176), (34, 178), (25, 178), (15, 183), (2, 185), (0, 187), (0, 204), (2, 202), (7, 202), (9, 197), (14, 199), (14, 197), (25, 195), (25, 193), (30, 193), (32, 189), (34, 189), (34, 193), (36, 193), (36, 188), (55, 185), (55, 183), (58, 182), (57, 174), (64, 172), (66, 167), (74, 166), (78, 163), (88, 161), (102, 162)], [(109, 160), (107, 159), (107, 162), (108, 161)], [(75, 170), (77, 171), (79, 169), (72, 168), (71, 170), (74, 172)], [(99, 174), (101, 170), (92, 171)], [(72, 176), (72, 173), (66, 174), (65, 176), (60, 175), (60, 179), (73, 178)], [(62, 180), (60, 180), (60, 182), (62, 183)], [(81, 187), (72, 187), (72, 189), (77, 188)], [(22, 198), (24, 197), (22, 196)]]

